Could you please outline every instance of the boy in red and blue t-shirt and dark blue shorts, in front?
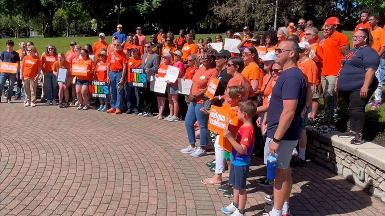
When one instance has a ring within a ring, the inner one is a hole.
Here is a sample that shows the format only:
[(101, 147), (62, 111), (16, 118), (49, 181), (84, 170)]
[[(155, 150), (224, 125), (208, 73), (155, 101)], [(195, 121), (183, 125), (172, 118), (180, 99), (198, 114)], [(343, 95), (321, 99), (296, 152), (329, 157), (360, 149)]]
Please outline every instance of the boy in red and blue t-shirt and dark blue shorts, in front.
[(229, 130), (224, 132), (230, 141), (233, 149), (231, 150), (231, 169), (229, 174), (229, 184), (234, 187), (234, 201), (221, 210), (231, 216), (244, 216), (244, 208), (247, 201), (246, 179), (249, 176), (250, 156), (254, 147), (254, 127), (251, 122), (257, 107), (251, 100), (239, 103), (238, 118), (243, 121), (235, 138)]

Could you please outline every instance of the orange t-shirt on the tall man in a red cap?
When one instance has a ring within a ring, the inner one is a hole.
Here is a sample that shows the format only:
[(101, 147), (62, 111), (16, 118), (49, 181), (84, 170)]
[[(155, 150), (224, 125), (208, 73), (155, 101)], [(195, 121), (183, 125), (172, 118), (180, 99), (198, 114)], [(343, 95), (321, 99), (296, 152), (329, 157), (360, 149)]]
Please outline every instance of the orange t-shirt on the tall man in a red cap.
[(334, 32), (323, 45), (323, 68), (321, 76), (337, 76), (341, 69), (343, 54), (341, 47), (349, 45), (346, 35)]

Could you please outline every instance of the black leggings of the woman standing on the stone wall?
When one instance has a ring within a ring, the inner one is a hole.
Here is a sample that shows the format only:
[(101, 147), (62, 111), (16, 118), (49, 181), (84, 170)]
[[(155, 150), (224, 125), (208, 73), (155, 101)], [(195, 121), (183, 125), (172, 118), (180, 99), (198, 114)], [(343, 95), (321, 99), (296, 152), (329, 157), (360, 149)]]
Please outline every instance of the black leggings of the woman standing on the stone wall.
[(368, 96), (361, 98), (360, 91), (341, 91), (343, 99), (349, 104), (351, 131), (362, 133), (365, 124), (365, 106), (372, 97), (373, 92), (373, 90), (368, 90)]

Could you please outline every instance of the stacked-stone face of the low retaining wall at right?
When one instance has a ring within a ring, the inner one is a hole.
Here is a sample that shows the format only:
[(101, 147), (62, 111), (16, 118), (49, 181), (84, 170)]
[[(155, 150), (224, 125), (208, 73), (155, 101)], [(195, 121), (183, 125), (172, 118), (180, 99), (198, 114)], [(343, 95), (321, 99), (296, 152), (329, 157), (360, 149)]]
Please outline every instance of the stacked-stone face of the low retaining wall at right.
[[(312, 161), (325, 166), (362, 188), (369, 188), (370, 193), (385, 202), (384, 170), (368, 163), (362, 158), (358, 158), (352, 153), (348, 153), (331, 145), (330, 140), (320, 139), (319, 136), (322, 135), (317, 135), (311, 131), (308, 131), (307, 135), (307, 159), (311, 159)], [(351, 144), (348, 143), (348, 145)], [(365, 170), (364, 181), (361, 181), (358, 178), (360, 167)]]

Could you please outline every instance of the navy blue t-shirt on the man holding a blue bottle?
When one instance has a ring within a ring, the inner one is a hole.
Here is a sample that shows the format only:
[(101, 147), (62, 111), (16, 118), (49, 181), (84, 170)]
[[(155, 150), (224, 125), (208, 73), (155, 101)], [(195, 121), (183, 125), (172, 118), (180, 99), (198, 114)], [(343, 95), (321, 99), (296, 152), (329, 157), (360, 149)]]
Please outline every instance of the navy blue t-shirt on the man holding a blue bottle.
[(299, 140), (301, 137), (301, 112), (306, 104), (307, 83), (300, 68), (290, 68), (282, 72), (273, 87), (267, 115), (267, 137), (273, 138), (278, 128), (283, 100), (298, 100), (293, 121), (282, 140)]

